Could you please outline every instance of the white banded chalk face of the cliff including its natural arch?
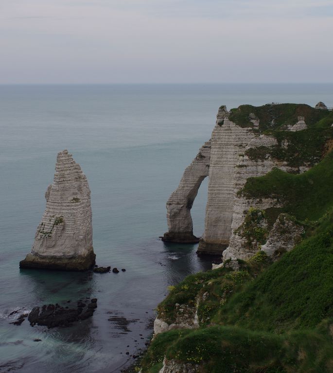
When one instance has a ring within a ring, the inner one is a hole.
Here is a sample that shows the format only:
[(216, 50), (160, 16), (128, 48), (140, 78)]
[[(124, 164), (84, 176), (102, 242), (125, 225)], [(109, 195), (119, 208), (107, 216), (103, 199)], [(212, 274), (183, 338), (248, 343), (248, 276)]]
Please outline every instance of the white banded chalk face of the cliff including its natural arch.
[[(298, 107), (300, 114), (302, 110), (305, 113), (306, 110), (311, 110), (309, 106), (305, 109), (303, 106)], [(274, 114), (276, 108), (278, 107), (268, 104), (257, 110), (259, 114), (263, 110), (266, 115), (263, 125), (260, 115), (253, 112), (247, 113), (243, 122), (237, 124), (230, 119), (235, 118), (231, 114), (244, 111), (238, 108), (228, 112), (226, 106), (219, 108), (210, 143), (205, 144), (210, 145), (210, 148), (203, 147), (199, 152), (205, 152), (205, 158), (197, 156), (193, 160), (167, 202), (169, 232), (164, 234), (163, 240), (195, 242), (190, 210), (201, 181), (208, 175), (205, 230), (199, 241), (198, 254), (223, 253), (224, 260), (248, 259), (261, 247), (258, 243), (246, 248), (244, 238), (235, 231), (244, 222), (250, 207), (265, 210), (281, 206), (274, 198), (249, 199), (237, 192), (245, 186), (248, 178), (263, 176), (274, 168), (292, 173), (309, 169), (306, 162), (291, 165), (283, 156), (274, 156), (279, 152), (287, 152), (289, 143), (287, 139), (278, 142), (275, 136), (263, 134), (263, 130), (279, 126), (283, 127), (282, 131), (285, 133), (307, 129), (303, 115), (298, 115), (297, 120), (292, 119), (294, 122), (286, 118), (289, 121), (283, 124), (280, 114)], [(267, 119), (270, 115), (270, 119)]]

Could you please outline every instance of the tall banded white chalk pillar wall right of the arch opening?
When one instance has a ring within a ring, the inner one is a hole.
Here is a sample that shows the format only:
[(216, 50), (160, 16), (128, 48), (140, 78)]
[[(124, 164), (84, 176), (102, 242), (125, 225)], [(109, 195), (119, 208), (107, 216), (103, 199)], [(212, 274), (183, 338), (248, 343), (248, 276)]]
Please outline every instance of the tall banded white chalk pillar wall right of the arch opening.
[(254, 137), (251, 130), (228, 120), (222, 106), (211, 136), (210, 173), (206, 205), (205, 231), (199, 243), (199, 254), (222, 254), (231, 235), (235, 197), (235, 167), (239, 154)]

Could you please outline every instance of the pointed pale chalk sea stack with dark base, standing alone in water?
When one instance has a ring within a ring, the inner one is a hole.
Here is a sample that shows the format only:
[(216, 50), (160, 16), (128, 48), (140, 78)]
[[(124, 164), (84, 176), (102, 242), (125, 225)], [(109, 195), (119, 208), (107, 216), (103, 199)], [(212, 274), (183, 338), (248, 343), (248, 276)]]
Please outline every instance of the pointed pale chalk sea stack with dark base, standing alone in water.
[(53, 184), (35, 242), (20, 268), (85, 271), (95, 264), (90, 189), (86, 175), (64, 150), (57, 155)]

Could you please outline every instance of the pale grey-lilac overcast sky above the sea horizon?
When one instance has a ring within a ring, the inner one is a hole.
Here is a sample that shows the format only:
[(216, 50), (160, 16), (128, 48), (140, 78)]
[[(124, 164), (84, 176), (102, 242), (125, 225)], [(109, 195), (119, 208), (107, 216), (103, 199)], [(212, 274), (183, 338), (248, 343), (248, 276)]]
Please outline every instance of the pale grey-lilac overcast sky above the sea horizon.
[(276, 82), (333, 82), (333, 0), (0, 0), (0, 84)]

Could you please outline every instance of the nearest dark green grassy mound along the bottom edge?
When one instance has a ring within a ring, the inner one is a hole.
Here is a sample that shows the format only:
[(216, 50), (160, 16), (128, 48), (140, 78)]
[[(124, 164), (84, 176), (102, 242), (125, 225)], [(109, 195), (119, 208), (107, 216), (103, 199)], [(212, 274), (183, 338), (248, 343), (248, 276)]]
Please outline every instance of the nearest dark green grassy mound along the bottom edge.
[(164, 356), (197, 364), (197, 372), (207, 373), (328, 373), (333, 370), (328, 322), (314, 330), (287, 335), (217, 325), (171, 330), (153, 340), (142, 360), (143, 372), (158, 373)]

